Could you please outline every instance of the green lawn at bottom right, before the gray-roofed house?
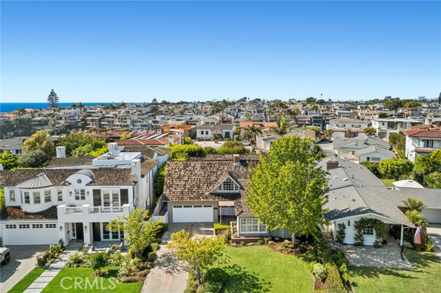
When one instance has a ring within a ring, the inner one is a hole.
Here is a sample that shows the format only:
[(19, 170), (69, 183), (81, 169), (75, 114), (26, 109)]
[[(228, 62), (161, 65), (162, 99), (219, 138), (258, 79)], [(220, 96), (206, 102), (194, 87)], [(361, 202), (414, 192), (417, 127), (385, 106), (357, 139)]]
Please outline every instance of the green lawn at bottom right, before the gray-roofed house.
[(355, 292), (440, 292), (441, 262), (435, 254), (407, 249), (404, 252), (409, 261), (416, 263), (416, 269), (349, 267)]

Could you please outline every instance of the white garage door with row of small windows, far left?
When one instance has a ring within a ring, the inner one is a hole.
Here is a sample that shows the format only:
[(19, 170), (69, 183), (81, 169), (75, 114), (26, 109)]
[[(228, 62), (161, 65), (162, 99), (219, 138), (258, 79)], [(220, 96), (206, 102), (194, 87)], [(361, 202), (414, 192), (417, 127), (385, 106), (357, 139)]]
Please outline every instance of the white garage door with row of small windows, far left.
[(59, 240), (57, 223), (5, 223), (1, 228), (5, 246), (57, 244)]

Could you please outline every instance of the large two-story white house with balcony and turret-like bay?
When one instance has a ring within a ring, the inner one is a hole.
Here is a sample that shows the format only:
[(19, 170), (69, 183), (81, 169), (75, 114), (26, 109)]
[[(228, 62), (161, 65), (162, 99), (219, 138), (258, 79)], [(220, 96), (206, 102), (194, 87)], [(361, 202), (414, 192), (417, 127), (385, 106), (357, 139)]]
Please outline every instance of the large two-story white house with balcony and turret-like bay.
[(123, 153), (113, 143), (109, 153), (89, 163), (83, 158), (65, 158), (63, 164), (64, 155), (64, 147), (58, 146), (57, 164), (1, 171), (6, 203), (0, 225), (4, 245), (119, 240), (121, 233), (105, 229), (107, 223), (130, 215), (135, 208), (150, 207), (153, 162), (141, 153)]

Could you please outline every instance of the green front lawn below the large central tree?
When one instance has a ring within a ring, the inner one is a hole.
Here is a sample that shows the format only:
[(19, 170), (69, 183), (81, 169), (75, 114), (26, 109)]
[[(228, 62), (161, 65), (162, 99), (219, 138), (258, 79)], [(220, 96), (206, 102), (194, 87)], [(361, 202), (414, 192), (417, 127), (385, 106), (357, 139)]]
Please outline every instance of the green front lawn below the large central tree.
[(314, 278), (306, 263), (265, 246), (226, 248), (229, 257), (220, 265), (229, 278), (223, 292), (313, 292)]

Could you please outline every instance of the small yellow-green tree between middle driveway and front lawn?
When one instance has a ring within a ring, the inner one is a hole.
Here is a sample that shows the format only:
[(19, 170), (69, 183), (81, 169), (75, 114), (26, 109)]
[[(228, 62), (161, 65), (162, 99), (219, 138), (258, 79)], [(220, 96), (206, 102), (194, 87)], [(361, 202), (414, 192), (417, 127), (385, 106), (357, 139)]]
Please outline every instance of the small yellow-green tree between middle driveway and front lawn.
[(198, 285), (202, 283), (201, 270), (214, 265), (225, 250), (224, 237), (198, 237), (181, 230), (173, 233), (170, 240), (166, 247), (175, 250), (176, 257), (182, 259), (185, 270), (196, 278)]

